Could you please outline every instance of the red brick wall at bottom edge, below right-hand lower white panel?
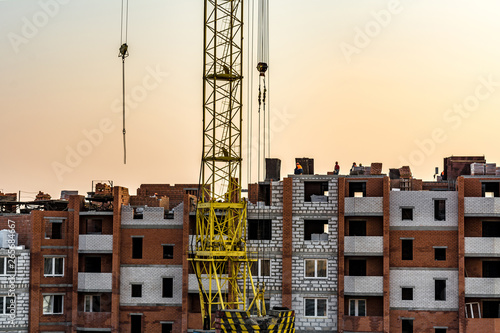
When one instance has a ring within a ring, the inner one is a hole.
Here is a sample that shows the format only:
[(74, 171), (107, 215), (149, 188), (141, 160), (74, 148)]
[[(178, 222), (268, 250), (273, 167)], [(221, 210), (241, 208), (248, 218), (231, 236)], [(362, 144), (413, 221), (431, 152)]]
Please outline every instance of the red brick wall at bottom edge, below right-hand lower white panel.
[(456, 311), (392, 310), (391, 332), (401, 332), (401, 319), (403, 317), (415, 318), (415, 320), (413, 320), (413, 332), (434, 333), (434, 326), (447, 326), (447, 333), (458, 333), (458, 316)]

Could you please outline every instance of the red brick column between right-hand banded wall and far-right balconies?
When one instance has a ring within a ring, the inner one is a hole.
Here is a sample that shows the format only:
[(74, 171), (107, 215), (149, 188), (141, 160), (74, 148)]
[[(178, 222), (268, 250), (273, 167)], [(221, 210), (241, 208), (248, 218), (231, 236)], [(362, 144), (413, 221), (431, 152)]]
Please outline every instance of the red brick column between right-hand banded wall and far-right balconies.
[(466, 332), (465, 318), (465, 181), (457, 178), (458, 188), (458, 331)]

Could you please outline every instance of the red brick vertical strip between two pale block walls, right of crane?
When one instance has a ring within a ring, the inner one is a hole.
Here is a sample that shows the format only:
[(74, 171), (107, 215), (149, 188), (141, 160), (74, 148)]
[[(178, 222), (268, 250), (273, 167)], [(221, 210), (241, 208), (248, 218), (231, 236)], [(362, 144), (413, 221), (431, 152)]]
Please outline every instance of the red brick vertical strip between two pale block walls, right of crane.
[(292, 178), (283, 179), (282, 306), (292, 308)]

